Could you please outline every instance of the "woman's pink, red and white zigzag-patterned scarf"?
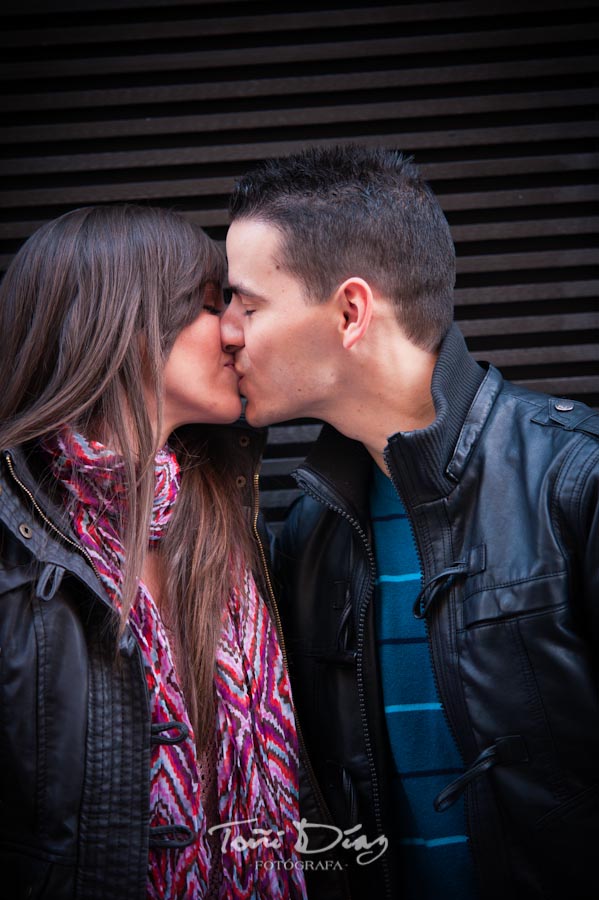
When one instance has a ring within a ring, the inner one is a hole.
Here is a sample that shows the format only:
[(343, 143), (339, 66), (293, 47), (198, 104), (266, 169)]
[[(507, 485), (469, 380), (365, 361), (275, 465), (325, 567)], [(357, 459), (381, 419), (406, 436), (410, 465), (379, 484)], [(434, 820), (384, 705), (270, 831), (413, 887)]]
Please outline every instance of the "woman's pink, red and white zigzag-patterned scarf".
[[(67, 429), (45, 449), (54, 475), (71, 495), (75, 532), (119, 609), (124, 561), (117, 531), (125, 496), (122, 461), (102, 444)], [(164, 533), (179, 490), (179, 466), (168, 447), (158, 453), (155, 472), (151, 541)], [(145, 663), (155, 739), (175, 739), (152, 746), (154, 840), (147, 897), (201, 900), (209, 890), (212, 894), (215, 884), (207, 837), (214, 823), (207, 822), (202, 806), (196, 747), (168, 635), (141, 581), (129, 622)], [(222, 872), (216, 879), (219, 900), (303, 898), (304, 879), (295, 850), (298, 750), (291, 690), (276, 630), (249, 571), (224, 610), (215, 690), (217, 816), (223, 826), (217, 831), (222, 849)], [(169, 722), (182, 724), (169, 728)], [(177, 849), (173, 838), (179, 841)]]

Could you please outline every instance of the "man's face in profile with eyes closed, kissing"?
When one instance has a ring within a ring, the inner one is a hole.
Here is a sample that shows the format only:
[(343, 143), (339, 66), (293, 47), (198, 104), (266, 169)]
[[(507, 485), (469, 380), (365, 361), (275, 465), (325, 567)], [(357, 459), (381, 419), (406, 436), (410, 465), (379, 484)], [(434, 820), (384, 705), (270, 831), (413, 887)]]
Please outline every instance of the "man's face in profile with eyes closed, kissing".
[(235, 352), (252, 425), (324, 418), (334, 394), (334, 305), (306, 302), (303, 285), (277, 262), (280, 240), (257, 219), (237, 220), (227, 235), (233, 296), (221, 335), (223, 348)]

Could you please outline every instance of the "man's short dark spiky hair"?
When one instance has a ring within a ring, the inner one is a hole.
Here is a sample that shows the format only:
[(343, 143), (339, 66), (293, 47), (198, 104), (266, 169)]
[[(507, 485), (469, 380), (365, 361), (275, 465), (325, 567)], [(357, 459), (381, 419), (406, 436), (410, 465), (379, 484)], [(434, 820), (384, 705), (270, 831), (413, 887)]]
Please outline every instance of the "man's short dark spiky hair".
[(282, 235), (279, 264), (324, 301), (352, 275), (393, 301), (407, 336), (437, 348), (453, 319), (455, 249), (435, 195), (411, 159), (383, 147), (311, 147), (237, 181), (231, 221)]

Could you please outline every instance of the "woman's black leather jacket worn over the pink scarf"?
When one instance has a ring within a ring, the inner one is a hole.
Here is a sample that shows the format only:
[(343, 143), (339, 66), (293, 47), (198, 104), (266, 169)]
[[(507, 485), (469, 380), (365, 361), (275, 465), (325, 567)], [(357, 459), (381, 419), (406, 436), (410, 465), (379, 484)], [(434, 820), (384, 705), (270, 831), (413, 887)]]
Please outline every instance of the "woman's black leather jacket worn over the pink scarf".
[[(235, 428), (218, 441), (252, 494), (263, 435)], [(0, 900), (146, 896), (143, 661), (129, 629), (115, 659), (116, 613), (90, 563), (22, 448), (3, 451)]]

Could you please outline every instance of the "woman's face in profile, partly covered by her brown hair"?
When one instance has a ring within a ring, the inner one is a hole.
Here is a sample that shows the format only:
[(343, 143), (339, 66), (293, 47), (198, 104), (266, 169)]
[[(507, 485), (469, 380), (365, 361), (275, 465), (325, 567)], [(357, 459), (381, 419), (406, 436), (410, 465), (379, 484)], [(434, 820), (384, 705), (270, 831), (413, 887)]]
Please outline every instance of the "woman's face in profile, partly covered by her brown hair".
[(232, 354), (221, 346), (222, 290), (208, 285), (204, 306), (177, 336), (164, 367), (163, 437), (193, 422), (225, 424), (241, 414)]

